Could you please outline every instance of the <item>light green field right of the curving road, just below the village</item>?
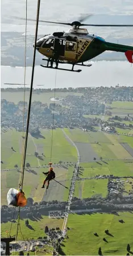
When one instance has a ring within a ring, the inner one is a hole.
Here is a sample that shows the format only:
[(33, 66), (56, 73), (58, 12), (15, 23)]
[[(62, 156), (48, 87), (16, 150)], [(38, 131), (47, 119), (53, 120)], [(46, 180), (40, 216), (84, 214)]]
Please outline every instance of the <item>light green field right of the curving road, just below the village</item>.
[[(90, 143), (98, 157), (102, 157), (103, 159), (115, 160), (132, 158), (126, 149), (119, 144), (119, 142), (124, 142), (122, 141), (121, 135), (113, 135), (106, 132), (84, 132), (82, 129), (68, 128), (64, 128), (64, 131), (74, 143)], [(127, 140), (128, 144), (132, 145), (133, 138), (129, 137)]]

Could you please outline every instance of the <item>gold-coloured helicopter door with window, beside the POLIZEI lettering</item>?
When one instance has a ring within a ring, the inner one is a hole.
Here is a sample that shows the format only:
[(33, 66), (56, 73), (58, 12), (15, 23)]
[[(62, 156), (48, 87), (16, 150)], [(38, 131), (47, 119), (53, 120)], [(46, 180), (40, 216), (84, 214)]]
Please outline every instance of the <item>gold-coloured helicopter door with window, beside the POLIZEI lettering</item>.
[(65, 43), (65, 59), (72, 61), (76, 59), (77, 43), (66, 41)]

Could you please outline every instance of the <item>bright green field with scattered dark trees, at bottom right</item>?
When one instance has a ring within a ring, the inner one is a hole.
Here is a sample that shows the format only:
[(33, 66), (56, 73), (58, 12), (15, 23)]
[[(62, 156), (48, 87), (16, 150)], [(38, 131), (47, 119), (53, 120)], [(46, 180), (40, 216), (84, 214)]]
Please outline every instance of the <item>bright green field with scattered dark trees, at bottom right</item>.
[[(122, 219), (125, 223), (121, 224)], [(62, 250), (65, 255), (98, 255), (101, 247), (103, 255), (126, 255), (127, 243), (133, 247), (132, 213), (113, 214), (69, 214), (68, 239), (65, 239)], [(110, 237), (105, 230), (114, 235)], [(95, 237), (94, 233), (99, 237)], [(108, 243), (103, 241), (106, 238)]]

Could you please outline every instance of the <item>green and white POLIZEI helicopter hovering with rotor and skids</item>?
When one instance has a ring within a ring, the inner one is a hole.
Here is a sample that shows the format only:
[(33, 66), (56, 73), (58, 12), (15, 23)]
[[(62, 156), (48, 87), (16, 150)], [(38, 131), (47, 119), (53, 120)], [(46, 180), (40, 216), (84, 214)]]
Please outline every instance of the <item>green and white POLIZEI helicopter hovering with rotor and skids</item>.
[[(89, 15), (91, 16), (91, 15)], [(18, 18), (18, 17), (17, 17)], [(18, 18), (23, 19), (24, 18)], [(74, 66), (90, 67), (92, 64), (84, 64), (88, 60), (95, 58), (105, 51), (124, 52), (128, 62), (133, 63), (133, 47), (118, 43), (106, 42), (101, 36), (89, 34), (87, 29), (82, 29), (81, 26), (97, 26), (97, 27), (133, 27), (133, 25), (94, 25), (84, 24), (82, 21), (74, 21), (72, 23), (42, 21), (44, 23), (52, 23), (59, 25), (72, 26), (66, 32), (53, 32), (53, 34), (44, 35), (36, 41), (36, 50), (48, 59), (47, 66), (40, 65), (45, 68), (57, 68), (58, 70), (81, 72), (82, 70), (74, 70)], [(27, 19), (27, 21), (36, 21), (35, 19)], [(35, 47), (35, 44), (33, 44)], [(51, 66), (49, 66), (51, 62)], [(53, 67), (53, 62), (56, 67)], [(58, 64), (72, 64), (72, 69), (58, 68)]]

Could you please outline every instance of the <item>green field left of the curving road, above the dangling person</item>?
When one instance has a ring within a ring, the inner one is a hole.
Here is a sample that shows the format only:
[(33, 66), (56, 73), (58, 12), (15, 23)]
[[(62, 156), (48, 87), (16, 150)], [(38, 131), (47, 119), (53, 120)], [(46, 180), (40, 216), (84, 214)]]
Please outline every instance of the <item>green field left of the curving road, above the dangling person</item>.
[[(14, 168), (15, 164), (18, 164), (19, 168), (22, 161), (22, 132), (16, 132), (14, 129), (8, 129), (7, 132), (1, 131), (1, 169)], [(63, 131), (56, 129), (53, 131), (53, 143), (52, 143), (52, 159), (51, 159), (51, 140), (52, 131), (48, 129), (41, 129), (41, 135), (45, 139), (35, 139), (34, 137), (28, 136), (27, 145), (27, 157), (26, 162), (30, 162), (31, 167), (39, 166), (38, 159), (34, 156), (35, 151), (41, 155), (44, 154), (44, 160), (39, 160), (40, 165), (48, 164), (49, 161), (63, 162), (76, 161), (77, 151), (69, 142), (66, 140)], [(16, 152), (13, 152), (11, 147)]]

